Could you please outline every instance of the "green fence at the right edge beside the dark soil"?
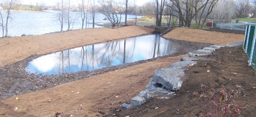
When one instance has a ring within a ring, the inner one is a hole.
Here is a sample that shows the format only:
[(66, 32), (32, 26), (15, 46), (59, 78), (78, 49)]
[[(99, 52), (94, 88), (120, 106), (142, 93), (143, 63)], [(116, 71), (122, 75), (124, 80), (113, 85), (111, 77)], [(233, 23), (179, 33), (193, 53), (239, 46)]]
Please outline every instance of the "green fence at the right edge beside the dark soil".
[(246, 30), (243, 41), (243, 49), (249, 58), (249, 66), (252, 66), (256, 71), (256, 48), (255, 38), (256, 38), (256, 23), (247, 23)]

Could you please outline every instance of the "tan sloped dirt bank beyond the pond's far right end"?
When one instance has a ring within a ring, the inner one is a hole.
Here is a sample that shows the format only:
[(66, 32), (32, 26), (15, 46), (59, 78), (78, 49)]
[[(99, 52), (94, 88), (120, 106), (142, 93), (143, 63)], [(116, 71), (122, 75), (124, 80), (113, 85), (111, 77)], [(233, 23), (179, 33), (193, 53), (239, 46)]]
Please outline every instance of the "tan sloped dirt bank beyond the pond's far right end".
[(232, 33), (211, 32), (190, 28), (176, 28), (175, 30), (169, 32), (163, 37), (172, 38), (176, 40), (210, 43), (215, 45), (225, 45), (233, 42), (243, 41), (244, 35), (234, 35)]

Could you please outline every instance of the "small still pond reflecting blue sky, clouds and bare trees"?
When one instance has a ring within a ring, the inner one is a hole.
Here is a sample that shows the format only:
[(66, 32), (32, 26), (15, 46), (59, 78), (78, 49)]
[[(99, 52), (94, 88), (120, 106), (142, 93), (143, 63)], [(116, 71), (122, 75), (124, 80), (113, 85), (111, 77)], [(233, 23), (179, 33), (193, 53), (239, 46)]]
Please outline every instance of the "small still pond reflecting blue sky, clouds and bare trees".
[(176, 44), (160, 35), (146, 35), (64, 50), (32, 60), (26, 71), (62, 74), (94, 70), (170, 55)]

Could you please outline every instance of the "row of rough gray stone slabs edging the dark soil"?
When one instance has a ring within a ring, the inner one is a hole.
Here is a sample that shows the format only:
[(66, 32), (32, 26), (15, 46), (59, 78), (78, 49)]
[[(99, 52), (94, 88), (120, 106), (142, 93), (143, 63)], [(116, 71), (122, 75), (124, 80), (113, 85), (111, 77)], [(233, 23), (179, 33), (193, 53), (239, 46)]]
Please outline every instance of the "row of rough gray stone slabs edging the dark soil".
[(128, 109), (141, 105), (147, 99), (152, 97), (165, 98), (175, 95), (175, 92), (181, 88), (183, 79), (185, 78), (184, 70), (193, 66), (197, 62), (194, 60), (209, 60), (204, 55), (211, 55), (213, 51), (223, 47), (236, 47), (243, 45), (243, 42), (235, 42), (229, 45), (212, 45), (201, 50), (189, 53), (189, 57), (182, 57), (180, 62), (173, 63), (168, 68), (160, 68), (154, 71), (153, 77), (150, 79), (146, 89), (141, 91), (137, 96), (133, 97), (130, 102), (123, 103), (122, 109)]

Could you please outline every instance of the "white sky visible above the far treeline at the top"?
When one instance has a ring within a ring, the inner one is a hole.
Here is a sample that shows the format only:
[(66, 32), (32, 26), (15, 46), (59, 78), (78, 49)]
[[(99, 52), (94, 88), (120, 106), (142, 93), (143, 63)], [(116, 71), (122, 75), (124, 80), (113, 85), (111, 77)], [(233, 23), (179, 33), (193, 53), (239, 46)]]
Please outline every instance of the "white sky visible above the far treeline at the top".
[[(71, 0), (71, 3), (73, 2), (76, 4), (77, 3), (76, 1), (77, 0)], [(95, 1), (97, 2), (98, 0), (95, 0)], [(125, 0), (116, 0), (116, 1), (125, 1)], [(129, 2), (133, 2), (133, 1), (134, 0), (129, 0)], [(141, 6), (141, 5), (143, 5), (147, 2), (150, 2), (152, 0), (135, 0), (135, 1), (136, 1), (136, 5)], [(37, 2), (38, 3), (43, 2), (45, 5), (50, 6), (50, 5), (55, 5), (58, 2), (58, 0), (21, 0), (21, 2), (22, 2), (22, 4), (25, 4), (25, 5), (36, 5)]]

